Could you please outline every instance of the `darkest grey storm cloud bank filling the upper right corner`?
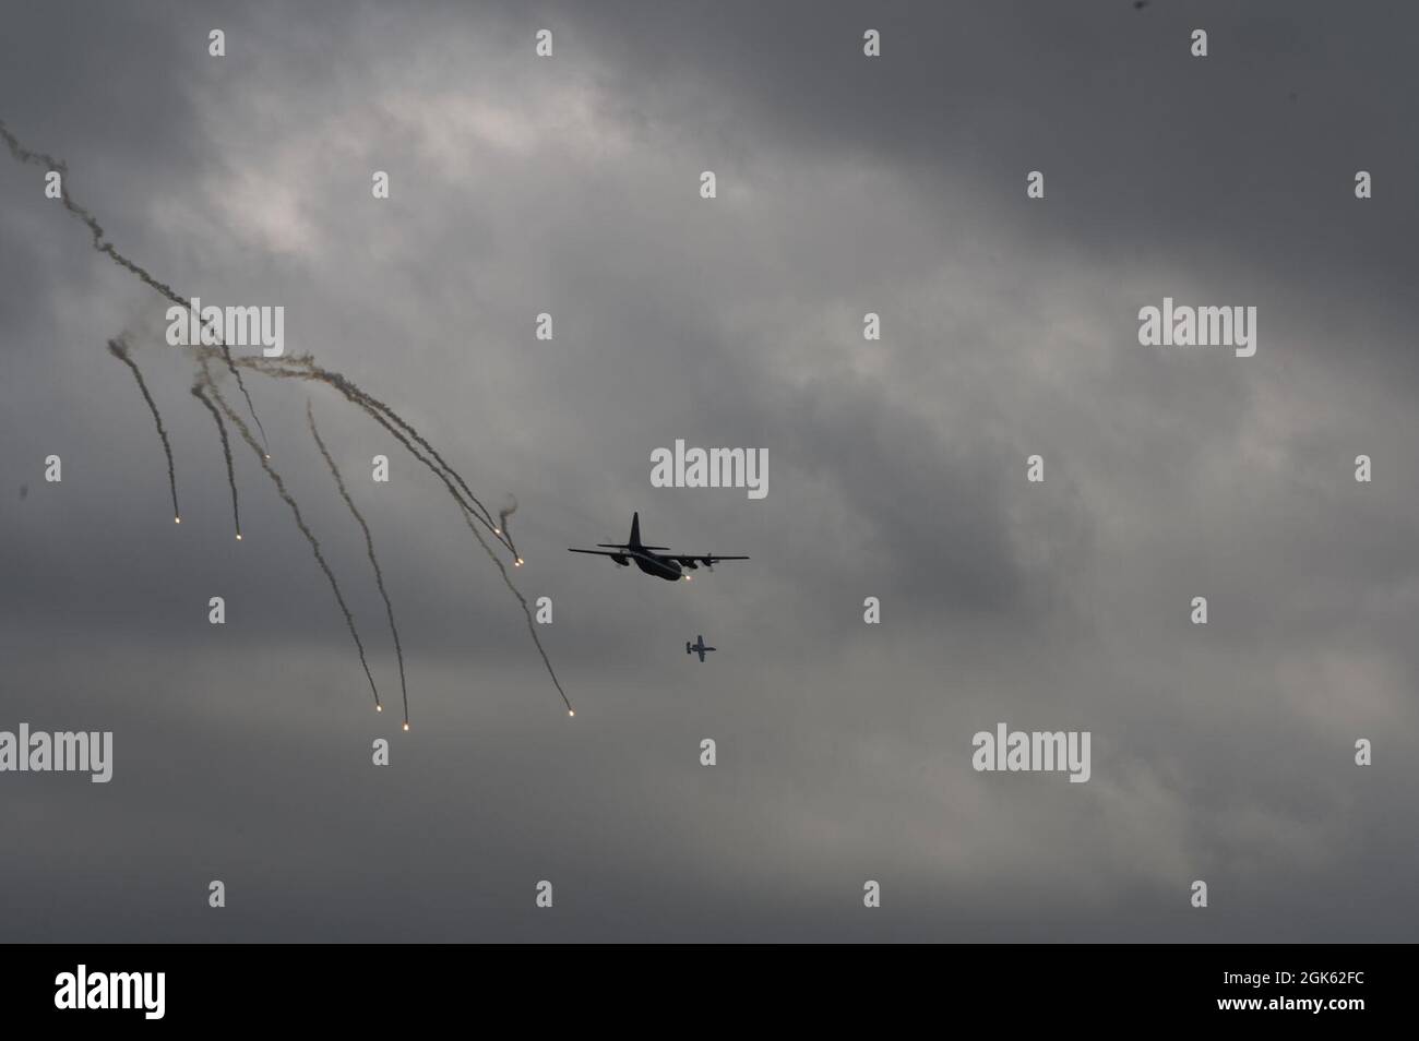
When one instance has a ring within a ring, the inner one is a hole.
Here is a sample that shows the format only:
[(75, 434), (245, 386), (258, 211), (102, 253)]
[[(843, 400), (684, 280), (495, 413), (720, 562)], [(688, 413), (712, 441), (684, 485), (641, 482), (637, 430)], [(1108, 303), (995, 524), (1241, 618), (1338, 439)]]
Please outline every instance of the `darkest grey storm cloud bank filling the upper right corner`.
[[(993, 220), (1124, 255), (1164, 238), (1193, 262), (1288, 258), (1325, 284), (1361, 267), (1388, 288), (1402, 284), (1395, 262), (1410, 262), (1413, 207), (1396, 191), (1379, 221), (1348, 187), (1355, 169), (1382, 169), (1398, 189), (1419, 159), (1395, 132), (1413, 11), (627, 1), (561, 16), (648, 121), (708, 135), (707, 150), (752, 155), (768, 138), (805, 157), (949, 170)], [(876, 64), (861, 61), (868, 27), (883, 34)], [(1200, 61), (1188, 52), (1199, 27)], [(1059, 174), (1060, 206), (1019, 204), (1030, 169)]]

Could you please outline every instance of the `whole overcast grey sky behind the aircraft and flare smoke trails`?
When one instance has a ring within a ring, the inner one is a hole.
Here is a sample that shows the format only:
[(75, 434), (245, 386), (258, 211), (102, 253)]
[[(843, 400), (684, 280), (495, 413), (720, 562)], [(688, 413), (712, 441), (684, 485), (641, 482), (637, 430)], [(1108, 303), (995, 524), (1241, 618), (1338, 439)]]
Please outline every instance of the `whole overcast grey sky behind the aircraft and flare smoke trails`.
[[(578, 709), (443, 485), (335, 393), (250, 377), (397, 705), (307, 400), (369, 519), (413, 729), (376, 716), (240, 442), (231, 538), (167, 302), (0, 155), (0, 730), (115, 745), (106, 786), (0, 774), (4, 939), (1415, 937), (1415, 13), (57, 3), (0, 24), (0, 119), (67, 160), (122, 252), (184, 296), (282, 305), (288, 353), (393, 404), (485, 502), (518, 498), (514, 576), (553, 601)], [(1164, 296), (1256, 306), (1256, 356), (1141, 346)], [(180, 528), (104, 349), (125, 330)], [(675, 438), (765, 448), (766, 498), (653, 488)], [(565, 552), (631, 511), (647, 542), (753, 559), (687, 584)], [(1000, 722), (1091, 732), (1090, 781), (972, 770)]]

